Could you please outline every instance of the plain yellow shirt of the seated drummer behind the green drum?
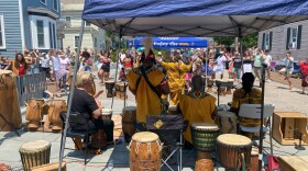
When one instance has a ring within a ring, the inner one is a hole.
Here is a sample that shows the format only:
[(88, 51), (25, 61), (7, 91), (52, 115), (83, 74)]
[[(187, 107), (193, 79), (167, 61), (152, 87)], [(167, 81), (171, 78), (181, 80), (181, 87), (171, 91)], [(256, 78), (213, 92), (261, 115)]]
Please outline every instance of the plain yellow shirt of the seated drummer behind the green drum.
[(204, 98), (194, 98), (193, 95), (182, 94), (179, 98), (179, 109), (184, 118), (189, 122), (184, 137), (187, 141), (193, 144), (190, 125), (194, 123), (215, 123), (211, 114), (216, 110), (216, 98), (206, 94)]

